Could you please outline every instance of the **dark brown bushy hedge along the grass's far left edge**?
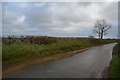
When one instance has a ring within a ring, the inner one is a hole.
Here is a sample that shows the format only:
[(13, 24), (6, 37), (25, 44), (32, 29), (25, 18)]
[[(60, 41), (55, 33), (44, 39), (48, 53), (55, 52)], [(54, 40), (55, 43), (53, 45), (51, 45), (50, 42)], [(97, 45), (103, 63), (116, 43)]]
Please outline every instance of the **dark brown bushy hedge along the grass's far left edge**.
[(2, 42), (5, 44), (14, 44), (14, 43), (32, 43), (32, 44), (51, 44), (56, 41), (54, 37), (47, 37), (47, 36), (21, 36), (19, 38), (14, 36), (3, 37)]

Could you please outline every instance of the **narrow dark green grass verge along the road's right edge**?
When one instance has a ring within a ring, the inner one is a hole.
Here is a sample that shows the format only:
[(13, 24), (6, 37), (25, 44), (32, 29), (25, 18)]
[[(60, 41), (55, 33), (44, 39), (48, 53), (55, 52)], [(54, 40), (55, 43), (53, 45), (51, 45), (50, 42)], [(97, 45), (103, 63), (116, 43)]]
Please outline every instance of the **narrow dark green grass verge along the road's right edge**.
[(112, 58), (112, 63), (110, 66), (110, 73), (109, 73), (110, 78), (120, 78), (119, 50), (120, 50), (120, 42), (113, 49), (113, 58)]

